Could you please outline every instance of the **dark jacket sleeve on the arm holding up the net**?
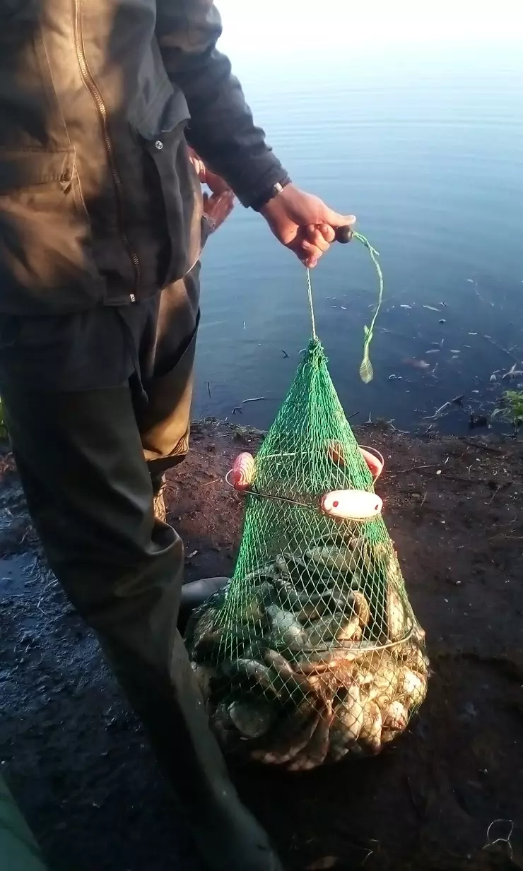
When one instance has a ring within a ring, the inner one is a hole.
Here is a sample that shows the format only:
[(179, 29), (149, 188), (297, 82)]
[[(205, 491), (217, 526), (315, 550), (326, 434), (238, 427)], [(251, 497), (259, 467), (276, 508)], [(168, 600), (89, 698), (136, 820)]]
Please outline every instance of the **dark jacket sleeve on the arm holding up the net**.
[(255, 126), (228, 57), (216, 50), (220, 14), (212, 0), (157, 0), (156, 8), (167, 75), (191, 113), (187, 141), (250, 206), (287, 173)]

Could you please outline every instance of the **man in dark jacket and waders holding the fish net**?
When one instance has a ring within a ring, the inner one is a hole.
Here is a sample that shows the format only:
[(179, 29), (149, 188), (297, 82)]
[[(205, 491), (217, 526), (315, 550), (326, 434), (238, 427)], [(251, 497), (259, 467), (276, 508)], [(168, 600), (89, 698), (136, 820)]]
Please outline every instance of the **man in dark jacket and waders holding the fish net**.
[(153, 515), (187, 453), (207, 233), (187, 144), (309, 267), (353, 219), (290, 184), (215, 49), (211, 0), (0, 15), (0, 394), (31, 516), (207, 868), (275, 871), (176, 629), (180, 537)]

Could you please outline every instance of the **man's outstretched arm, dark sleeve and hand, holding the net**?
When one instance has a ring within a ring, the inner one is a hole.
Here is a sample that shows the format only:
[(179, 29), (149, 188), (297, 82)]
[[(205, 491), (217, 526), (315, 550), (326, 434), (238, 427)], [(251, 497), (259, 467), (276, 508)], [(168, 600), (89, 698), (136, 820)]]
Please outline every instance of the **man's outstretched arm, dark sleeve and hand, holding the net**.
[(156, 0), (156, 8), (156, 37), (166, 71), (184, 92), (191, 113), (189, 145), (244, 206), (259, 208), (282, 245), (305, 266), (315, 267), (334, 241), (335, 228), (353, 224), (355, 217), (333, 212), (290, 184), (279, 186), (281, 192), (261, 206), (288, 177), (255, 126), (228, 58), (216, 51), (218, 10), (212, 0)]

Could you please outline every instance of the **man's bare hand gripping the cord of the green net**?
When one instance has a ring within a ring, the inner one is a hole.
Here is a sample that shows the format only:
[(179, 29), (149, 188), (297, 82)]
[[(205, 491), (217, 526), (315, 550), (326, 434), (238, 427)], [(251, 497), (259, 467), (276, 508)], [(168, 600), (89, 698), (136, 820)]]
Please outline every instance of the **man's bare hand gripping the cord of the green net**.
[(293, 251), (306, 267), (316, 267), (329, 250), (338, 226), (352, 226), (354, 215), (340, 215), (310, 193), (288, 185), (263, 206), (261, 214), (282, 245)]

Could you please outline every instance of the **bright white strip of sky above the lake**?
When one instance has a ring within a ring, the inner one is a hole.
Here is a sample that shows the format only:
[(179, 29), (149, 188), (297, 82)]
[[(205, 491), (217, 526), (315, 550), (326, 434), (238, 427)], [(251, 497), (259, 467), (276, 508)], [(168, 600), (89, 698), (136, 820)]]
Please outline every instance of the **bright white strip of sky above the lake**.
[(215, 0), (229, 54), (523, 39), (521, 0)]

